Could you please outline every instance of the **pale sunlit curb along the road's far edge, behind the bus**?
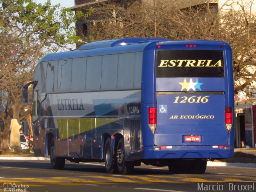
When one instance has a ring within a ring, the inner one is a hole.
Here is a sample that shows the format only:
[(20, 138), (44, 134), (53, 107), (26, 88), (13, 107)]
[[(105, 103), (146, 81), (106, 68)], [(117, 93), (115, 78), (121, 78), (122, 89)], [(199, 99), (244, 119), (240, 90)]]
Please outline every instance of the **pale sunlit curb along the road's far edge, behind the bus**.
[[(50, 157), (0, 157), (0, 160), (50, 160)], [(256, 168), (256, 163), (226, 163), (226, 162), (212, 162), (208, 161), (209, 167), (253, 167)]]

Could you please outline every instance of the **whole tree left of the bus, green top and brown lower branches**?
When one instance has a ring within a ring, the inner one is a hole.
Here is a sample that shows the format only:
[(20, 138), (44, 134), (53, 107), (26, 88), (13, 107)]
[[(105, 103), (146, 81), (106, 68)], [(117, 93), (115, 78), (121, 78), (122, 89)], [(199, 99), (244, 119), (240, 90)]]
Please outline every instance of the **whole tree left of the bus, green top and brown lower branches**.
[[(33, 0), (2, 0), (0, 3), (0, 89), (5, 97), (0, 118), (4, 131), (0, 134), (0, 150), (9, 146), (11, 118), (20, 122), (25, 111), (21, 89), (33, 78), (37, 62), (49, 52), (67, 50), (68, 43), (78, 38), (72, 22), (76, 17), (70, 9)], [(19, 133), (18, 133), (19, 139)], [(16, 146), (16, 150), (20, 147)]]

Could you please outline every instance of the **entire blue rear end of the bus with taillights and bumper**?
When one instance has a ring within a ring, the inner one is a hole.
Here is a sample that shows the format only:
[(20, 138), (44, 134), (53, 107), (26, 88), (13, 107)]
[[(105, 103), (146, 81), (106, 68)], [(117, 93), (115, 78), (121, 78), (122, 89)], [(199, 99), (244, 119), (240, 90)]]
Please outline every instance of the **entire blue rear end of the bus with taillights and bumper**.
[(155, 98), (148, 105), (148, 125), (144, 124), (151, 129), (154, 143), (144, 146), (145, 159), (233, 156), (230, 55), (230, 46), (217, 41), (171, 41), (156, 46)]

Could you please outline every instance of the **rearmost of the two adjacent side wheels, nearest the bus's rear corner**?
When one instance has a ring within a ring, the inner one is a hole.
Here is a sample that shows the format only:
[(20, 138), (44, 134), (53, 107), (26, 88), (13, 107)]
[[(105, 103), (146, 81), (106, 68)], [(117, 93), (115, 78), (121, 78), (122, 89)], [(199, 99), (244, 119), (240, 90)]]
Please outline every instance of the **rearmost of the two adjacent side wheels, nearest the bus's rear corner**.
[(134, 169), (132, 162), (125, 161), (124, 158), (124, 139), (120, 138), (116, 148), (117, 168), (120, 174), (131, 174)]

